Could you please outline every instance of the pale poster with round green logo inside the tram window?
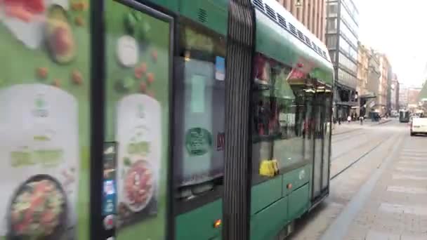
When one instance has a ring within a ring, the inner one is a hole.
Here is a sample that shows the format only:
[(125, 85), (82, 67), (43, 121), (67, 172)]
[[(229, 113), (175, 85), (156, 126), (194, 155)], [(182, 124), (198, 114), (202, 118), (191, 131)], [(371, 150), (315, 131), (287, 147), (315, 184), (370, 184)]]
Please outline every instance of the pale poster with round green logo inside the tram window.
[(186, 61), (185, 89), (176, 93), (184, 101), (176, 109), (183, 113), (182, 134), (176, 135), (176, 159), (182, 163), (176, 170), (176, 184), (183, 187), (180, 198), (211, 189), (211, 181), (223, 175), (225, 88), (216, 72), (213, 62)]

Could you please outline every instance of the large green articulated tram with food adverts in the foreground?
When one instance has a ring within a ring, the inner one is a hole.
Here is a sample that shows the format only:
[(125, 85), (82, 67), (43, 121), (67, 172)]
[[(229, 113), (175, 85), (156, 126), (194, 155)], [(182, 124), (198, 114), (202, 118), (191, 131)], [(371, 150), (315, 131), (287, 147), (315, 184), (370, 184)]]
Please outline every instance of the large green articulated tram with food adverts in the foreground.
[(278, 239), (329, 194), (327, 48), (230, 1), (0, 1), (0, 239)]

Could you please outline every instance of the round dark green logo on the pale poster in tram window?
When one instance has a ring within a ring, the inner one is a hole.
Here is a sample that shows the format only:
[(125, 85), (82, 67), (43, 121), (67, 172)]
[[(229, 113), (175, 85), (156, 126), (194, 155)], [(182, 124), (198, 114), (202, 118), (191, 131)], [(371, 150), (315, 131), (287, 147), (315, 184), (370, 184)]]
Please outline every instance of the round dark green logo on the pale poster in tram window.
[(212, 135), (204, 128), (190, 128), (185, 134), (185, 147), (191, 156), (202, 156), (212, 147)]

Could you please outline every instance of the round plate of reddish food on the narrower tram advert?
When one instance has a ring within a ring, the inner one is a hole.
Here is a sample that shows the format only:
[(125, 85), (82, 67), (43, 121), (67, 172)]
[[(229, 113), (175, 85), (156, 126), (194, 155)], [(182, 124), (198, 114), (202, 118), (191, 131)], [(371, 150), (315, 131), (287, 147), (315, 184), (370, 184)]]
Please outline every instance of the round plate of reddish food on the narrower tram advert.
[[(124, 161), (124, 159), (122, 159)], [(151, 164), (143, 158), (129, 159), (122, 182), (123, 201), (134, 213), (143, 211), (150, 203), (156, 187), (156, 176)]]

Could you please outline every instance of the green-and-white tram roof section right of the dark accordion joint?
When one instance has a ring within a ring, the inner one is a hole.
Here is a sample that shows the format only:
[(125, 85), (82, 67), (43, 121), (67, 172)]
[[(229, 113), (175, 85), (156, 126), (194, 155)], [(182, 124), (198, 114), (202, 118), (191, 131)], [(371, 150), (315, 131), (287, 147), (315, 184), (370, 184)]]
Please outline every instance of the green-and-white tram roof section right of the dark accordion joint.
[(284, 64), (303, 63), (310, 76), (333, 83), (327, 47), (275, 0), (252, 0), (256, 8), (256, 50)]

